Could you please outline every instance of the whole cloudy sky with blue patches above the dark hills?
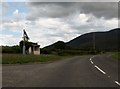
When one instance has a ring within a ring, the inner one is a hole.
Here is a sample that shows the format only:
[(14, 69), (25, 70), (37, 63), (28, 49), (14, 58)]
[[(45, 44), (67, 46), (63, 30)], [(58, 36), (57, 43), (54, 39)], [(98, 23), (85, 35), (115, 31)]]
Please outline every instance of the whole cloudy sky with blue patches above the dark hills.
[[(14, 0), (13, 0), (14, 1)], [(118, 27), (118, 2), (0, 3), (0, 45), (19, 45), (26, 30), (41, 48), (56, 41), (68, 42), (82, 34)], [(95, 1), (95, 0), (94, 0)], [(105, 0), (104, 0), (105, 1)]]

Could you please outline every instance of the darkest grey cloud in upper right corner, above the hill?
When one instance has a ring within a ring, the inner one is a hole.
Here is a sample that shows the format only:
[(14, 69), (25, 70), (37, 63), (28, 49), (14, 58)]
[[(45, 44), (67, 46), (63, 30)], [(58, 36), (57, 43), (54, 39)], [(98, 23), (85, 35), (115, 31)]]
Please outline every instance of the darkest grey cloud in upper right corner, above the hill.
[(96, 17), (105, 17), (106, 19), (117, 18), (118, 3), (117, 2), (92, 2), (81, 4), (82, 12), (93, 14)]

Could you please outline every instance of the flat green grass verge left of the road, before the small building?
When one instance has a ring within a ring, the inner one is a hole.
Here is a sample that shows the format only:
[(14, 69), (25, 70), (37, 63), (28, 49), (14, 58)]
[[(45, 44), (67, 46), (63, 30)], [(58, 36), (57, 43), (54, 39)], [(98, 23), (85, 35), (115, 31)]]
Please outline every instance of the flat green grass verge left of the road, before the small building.
[(2, 64), (24, 64), (36, 62), (57, 61), (69, 56), (58, 55), (22, 55), (22, 54), (2, 54)]

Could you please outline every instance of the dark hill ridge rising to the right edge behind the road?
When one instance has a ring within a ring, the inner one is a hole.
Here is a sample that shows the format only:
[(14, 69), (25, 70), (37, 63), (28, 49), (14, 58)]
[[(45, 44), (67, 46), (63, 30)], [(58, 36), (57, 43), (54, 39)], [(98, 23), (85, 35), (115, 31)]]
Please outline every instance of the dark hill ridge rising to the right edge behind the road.
[(64, 43), (58, 41), (52, 45), (44, 47), (45, 49), (93, 49), (93, 42), (96, 50), (118, 50), (119, 49), (120, 28), (104, 32), (91, 32), (83, 34), (71, 41)]

